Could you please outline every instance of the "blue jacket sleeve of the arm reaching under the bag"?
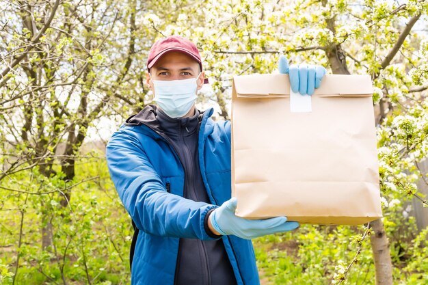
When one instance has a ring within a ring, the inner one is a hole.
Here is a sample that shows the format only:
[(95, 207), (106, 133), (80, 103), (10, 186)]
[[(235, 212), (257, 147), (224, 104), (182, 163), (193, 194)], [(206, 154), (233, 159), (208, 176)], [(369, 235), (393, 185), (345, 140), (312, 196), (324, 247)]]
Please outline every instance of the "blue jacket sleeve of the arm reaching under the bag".
[(215, 239), (204, 218), (215, 205), (168, 193), (138, 139), (121, 128), (107, 144), (107, 165), (119, 197), (140, 230), (159, 236)]

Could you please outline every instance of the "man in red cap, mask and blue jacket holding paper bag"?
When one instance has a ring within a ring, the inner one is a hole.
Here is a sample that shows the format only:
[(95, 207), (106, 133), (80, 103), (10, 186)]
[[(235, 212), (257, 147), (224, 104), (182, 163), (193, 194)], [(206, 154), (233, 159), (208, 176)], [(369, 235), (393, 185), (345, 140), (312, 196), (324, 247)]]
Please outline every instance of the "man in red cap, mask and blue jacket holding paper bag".
[[(128, 118), (107, 145), (111, 178), (139, 230), (131, 284), (259, 284), (251, 239), (299, 224), (235, 216), (230, 122), (214, 122), (213, 109), (195, 107), (205, 82), (196, 45), (178, 36), (159, 40), (147, 68), (157, 106)], [(288, 69), (282, 57), (280, 70)], [(289, 71), (293, 90), (303, 94), (325, 73), (321, 66)]]

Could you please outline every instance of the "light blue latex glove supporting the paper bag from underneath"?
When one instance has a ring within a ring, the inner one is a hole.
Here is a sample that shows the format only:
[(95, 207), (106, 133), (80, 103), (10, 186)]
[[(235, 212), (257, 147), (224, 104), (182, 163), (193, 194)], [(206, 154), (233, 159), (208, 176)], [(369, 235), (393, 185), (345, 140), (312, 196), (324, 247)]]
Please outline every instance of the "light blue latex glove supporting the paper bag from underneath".
[(216, 208), (209, 216), (211, 226), (219, 234), (233, 234), (241, 239), (254, 239), (276, 232), (287, 232), (299, 227), (297, 221), (287, 221), (286, 217), (270, 219), (244, 219), (235, 216), (237, 198), (232, 198)]

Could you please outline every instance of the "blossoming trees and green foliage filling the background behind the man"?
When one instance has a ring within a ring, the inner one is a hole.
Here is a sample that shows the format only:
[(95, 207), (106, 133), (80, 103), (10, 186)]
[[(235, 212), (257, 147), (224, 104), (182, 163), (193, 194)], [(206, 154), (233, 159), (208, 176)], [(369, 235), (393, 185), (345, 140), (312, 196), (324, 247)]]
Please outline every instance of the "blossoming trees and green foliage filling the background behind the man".
[[(214, 105), (218, 119), (229, 117), (232, 75), (275, 72), (282, 53), (328, 72), (371, 74), (394, 284), (427, 284), (428, 228), (403, 214), (412, 199), (427, 205), (416, 185), (428, 185), (420, 168), (427, 8), (420, 0), (0, 0), (0, 284), (129, 284), (133, 230), (109, 179), (105, 141), (90, 152), (82, 146), (152, 103), (146, 56), (171, 34), (198, 43), (212, 86), (198, 104)], [(45, 247), (42, 233), (51, 234)], [(375, 284), (370, 234), (303, 225), (256, 239), (260, 278)]]

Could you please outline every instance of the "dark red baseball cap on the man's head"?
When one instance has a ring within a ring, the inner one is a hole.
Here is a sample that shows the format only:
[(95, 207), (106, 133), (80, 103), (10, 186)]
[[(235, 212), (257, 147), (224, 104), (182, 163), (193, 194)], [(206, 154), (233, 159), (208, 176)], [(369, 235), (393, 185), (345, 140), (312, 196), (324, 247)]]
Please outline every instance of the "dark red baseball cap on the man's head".
[[(200, 59), (196, 44), (180, 36), (169, 36), (155, 42), (148, 53), (147, 69), (150, 70), (162, 55), (170, 51), (180, 51), (189, 55), (198, 62), (200, 70), (202, 71), (202, 60)], [(204, 83), (208, 83), (208, 79), (205, 79)]]

